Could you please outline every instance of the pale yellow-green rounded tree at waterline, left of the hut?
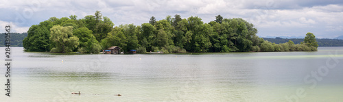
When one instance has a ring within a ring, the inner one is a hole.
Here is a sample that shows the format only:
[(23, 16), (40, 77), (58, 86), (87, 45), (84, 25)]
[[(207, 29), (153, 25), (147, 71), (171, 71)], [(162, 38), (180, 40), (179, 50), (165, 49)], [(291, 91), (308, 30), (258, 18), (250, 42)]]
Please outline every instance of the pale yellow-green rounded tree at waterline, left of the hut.
[(73, 27), (61, 27), (60, 25), (55, 25), (50, 29), (51, 36), (50, 40), (54, 44), (54, 48), (51, 52), (56, 53), (66, 53), (73, 51), (80, 44), (79, 38), (73, 36)]

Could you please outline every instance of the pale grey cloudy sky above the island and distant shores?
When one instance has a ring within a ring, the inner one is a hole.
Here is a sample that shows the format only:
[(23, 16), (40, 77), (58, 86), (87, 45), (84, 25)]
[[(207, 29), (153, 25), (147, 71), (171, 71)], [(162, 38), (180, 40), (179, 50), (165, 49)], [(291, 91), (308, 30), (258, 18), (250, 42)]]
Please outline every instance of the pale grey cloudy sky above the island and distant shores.
[(26, 32), (52, 16), (77, 15), (84, 18), (96, 10), (115, 25), (141, 25), (151, 16), (157, 20), (167, 15), (182, 18), (199, 16), (209, 23), (218, 14), (224, 18), (244, 18), (259, 30), (258, 36), (305, 36), (317, 38), (343, 36), (342, 0), (0, 0), (0, 32), (5, 25), (12, 31)]

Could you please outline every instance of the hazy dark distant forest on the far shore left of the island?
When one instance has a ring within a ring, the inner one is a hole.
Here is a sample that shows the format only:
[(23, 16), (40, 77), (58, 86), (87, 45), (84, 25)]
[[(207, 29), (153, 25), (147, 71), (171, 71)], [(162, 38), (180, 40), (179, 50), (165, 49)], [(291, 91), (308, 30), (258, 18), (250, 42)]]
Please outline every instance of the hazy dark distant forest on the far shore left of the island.
[[(5, 33), (0, 34), (0, 47), (5, 47)], [(23, 47), (23, 39), (27, 37), (27, 33), (19, 34), (19, 33), (12, 33), (11, 34), (11, 46), (12, 47)]]

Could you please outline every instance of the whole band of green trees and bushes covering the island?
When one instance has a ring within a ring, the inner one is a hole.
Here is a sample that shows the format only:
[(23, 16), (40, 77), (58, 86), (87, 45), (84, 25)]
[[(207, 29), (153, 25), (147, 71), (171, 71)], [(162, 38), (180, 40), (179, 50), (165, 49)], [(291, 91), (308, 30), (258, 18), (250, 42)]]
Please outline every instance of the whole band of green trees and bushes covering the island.
[(259, 38), (257, 29), (242, 18), (223, 18), (218, 15), (210, 23), (198, 16), (174, 18), (167, 16), (141, 25), (114, 27), (110, 18), (101, 12), (78, 19), (51, 17), (32, 25), (23, 40), (25, 51), (99, 53), (108, 47), (118, 46), (124, 52), (137, 49), (137, 53), (163, 51), (184, 52), (247, 52), (247, 51), (317, 51), (314, 34), (308, 33), (301, 44), (291, 40), (275, 44)]

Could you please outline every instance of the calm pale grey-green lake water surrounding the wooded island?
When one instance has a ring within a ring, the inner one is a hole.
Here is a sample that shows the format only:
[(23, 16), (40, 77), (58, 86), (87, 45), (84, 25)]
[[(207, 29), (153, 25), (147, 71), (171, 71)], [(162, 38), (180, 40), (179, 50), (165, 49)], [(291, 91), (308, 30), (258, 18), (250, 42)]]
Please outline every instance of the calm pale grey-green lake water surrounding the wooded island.
[(343, 100), (343, 47), (163, 55), (60, 55), (13, 47), (11, 54), (11, 97), (1, 66), (0, 101)]

